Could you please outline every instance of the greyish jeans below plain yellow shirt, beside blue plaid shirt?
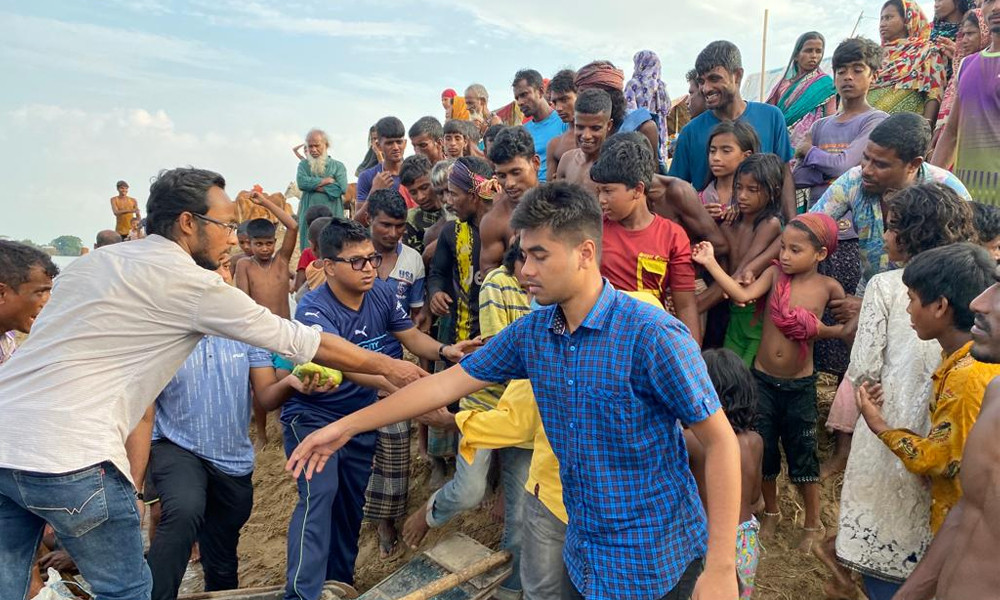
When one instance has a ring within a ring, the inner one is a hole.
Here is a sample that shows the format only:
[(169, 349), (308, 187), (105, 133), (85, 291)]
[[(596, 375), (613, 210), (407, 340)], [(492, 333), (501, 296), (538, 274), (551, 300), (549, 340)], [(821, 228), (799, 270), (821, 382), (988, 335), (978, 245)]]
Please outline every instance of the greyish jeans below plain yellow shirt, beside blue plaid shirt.
[(566, 524), (541, 500), (524, 492), (521, 505), (521, 586), (524, 600), (565, 600)]

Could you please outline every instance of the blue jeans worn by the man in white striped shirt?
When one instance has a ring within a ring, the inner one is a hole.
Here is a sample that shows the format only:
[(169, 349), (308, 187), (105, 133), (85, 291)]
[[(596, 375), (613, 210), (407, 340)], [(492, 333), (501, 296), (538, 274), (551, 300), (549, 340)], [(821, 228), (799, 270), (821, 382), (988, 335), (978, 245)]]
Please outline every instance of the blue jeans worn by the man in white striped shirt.
[(107, 462), (56, 475), (0, 469), (0, 598), (27, 595), (46, 523), (98, 600), (148, 600), (135, 489)]

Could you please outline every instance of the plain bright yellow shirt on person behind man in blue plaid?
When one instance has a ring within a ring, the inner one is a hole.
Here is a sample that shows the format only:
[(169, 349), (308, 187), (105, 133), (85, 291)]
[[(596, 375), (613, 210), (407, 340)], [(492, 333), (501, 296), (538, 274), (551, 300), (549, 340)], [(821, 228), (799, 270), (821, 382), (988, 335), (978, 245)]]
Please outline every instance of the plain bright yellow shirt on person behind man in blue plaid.
[[(647, 304), (663, 308), (656, 296), (649, 292), (626, 293)], [(455, 423), (462, 433), (458, 451), (469, 462), (472, 462), (477, 449), (533, 447), (528, 481), (524, 484), (524, 489), (538, 498), (563, 523), (569, 522), (566, 505), (562, 501), (559, 460), (542, 427), (531, 382), (527, 379), (511, 381), (495, 409), (485, 412), (463, 410), (455, 415)]]

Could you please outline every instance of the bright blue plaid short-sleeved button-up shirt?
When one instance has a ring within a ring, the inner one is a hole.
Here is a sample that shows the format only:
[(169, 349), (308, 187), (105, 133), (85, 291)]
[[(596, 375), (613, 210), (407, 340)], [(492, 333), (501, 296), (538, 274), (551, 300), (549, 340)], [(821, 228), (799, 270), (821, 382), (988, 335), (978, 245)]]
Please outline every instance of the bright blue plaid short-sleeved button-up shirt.
[(584, 597), (660, 598), (705, 555), (680, 423), (708, 418), (719, 399), (680, 321), (605, 282), (576, 331), (546, 307), (461, 364), (480, 381), (531, 380), (559, 459), (564, 558)]

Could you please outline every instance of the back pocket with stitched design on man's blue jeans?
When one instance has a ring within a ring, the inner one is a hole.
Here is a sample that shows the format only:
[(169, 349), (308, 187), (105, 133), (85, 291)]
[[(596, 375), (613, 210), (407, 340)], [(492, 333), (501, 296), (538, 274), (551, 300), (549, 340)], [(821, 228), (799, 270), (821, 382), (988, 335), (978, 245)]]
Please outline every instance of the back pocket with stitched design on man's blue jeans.
[(60, 536), (81, 537), (108, 520), (104, 467), (63, 475), (14, 475), (28, 510), (45, 519)]

